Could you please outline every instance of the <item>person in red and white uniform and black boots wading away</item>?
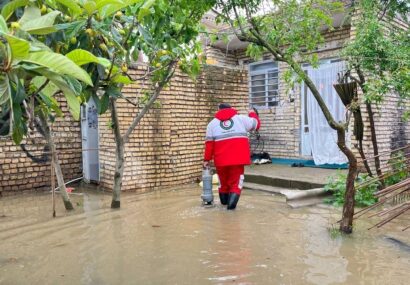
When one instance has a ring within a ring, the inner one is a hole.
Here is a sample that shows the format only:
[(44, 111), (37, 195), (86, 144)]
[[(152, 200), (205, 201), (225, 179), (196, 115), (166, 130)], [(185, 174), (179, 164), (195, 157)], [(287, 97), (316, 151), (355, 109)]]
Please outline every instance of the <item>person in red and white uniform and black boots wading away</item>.
[(219, 105), (219, 111), (206, 129), (204, 167), (213, 159), (219, 179), (219, 199), (228, 210), (236, 208), (241, 195), (244, 166), (251, 164), (248, 132), (258, 130), (258, 115), (238, 115), (229, 104)]

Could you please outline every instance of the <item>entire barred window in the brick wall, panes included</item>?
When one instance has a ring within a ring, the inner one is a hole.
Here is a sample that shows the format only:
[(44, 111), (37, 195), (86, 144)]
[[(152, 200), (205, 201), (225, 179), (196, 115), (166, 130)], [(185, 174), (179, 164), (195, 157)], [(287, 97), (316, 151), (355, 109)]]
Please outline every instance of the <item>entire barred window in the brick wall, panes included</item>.
[(279, 69), (271, 60), (249, 65), (249, 103), (251, 107), (272, 107), (279, 103)]

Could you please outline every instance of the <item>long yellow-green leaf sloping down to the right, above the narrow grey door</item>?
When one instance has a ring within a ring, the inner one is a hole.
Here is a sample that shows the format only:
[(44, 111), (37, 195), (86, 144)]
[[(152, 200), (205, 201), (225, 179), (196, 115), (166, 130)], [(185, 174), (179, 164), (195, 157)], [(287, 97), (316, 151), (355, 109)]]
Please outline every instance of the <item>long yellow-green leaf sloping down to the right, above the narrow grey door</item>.
[(78, 67), (73, 61), (61, 54), (48, 51), (32, 52), (23, 61), (48, 67), (58, 74), (71, 75), (88, 85), (93, 85), (90, 76), (84, 69)]

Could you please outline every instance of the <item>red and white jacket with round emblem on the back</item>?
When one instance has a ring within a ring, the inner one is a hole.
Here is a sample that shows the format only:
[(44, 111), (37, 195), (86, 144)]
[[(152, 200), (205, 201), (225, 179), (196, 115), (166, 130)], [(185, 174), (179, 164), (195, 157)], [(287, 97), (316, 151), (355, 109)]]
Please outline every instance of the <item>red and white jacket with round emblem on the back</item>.
[(213, 159), (217, 167), (251, 164), (248, 132), (259, 127), (255, 112), (248, 117), (233, 108), (219, 110), (206, 129), (204, 160)]

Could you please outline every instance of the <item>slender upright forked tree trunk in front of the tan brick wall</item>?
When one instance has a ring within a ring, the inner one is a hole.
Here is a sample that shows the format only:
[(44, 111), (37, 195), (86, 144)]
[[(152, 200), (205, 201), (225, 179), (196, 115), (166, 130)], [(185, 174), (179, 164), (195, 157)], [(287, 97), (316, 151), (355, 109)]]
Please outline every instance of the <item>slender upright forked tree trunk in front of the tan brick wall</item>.
[(112, 189), (112, 202), (111, 208), (121, 207), (121, 186), (122, 177), (124, 174), (124, 140), (121, 136), (120, 124), (118, 120), (116, 99), (110, 98), (111, 104), (111, 120), (114, 129), (115, 136), (115, 173), (114, 173), (114, 186)]

